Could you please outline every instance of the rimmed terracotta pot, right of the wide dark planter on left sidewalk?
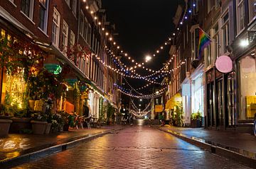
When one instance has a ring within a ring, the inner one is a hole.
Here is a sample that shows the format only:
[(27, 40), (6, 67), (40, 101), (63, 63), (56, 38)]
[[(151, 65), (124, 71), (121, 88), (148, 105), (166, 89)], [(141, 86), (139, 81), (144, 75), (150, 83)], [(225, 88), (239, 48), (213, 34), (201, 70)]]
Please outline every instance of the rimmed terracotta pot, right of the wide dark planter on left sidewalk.
[(34, 113), (32, 115), (32, 130), (33, 134), (44, 134), (46, 130), (46, 124), (47, 124), (47, 117), (46, 115), (41, 115), (41, 113)]

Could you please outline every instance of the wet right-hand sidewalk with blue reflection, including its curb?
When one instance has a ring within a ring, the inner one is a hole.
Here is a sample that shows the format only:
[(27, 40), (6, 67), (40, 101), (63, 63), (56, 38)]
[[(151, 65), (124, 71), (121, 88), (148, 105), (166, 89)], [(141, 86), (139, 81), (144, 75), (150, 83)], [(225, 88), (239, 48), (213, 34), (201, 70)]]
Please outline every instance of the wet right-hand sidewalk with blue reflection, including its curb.
[(191, 144), (206, 148), (212, 153), (227, 158), (235, 158), (236, 161), (249, 163), (254, 168), (256, 166), (256, 137), (251, 134), (202, 128), (170, 127), (167, 125), (165, 127), (154, 127), (178, 136)]

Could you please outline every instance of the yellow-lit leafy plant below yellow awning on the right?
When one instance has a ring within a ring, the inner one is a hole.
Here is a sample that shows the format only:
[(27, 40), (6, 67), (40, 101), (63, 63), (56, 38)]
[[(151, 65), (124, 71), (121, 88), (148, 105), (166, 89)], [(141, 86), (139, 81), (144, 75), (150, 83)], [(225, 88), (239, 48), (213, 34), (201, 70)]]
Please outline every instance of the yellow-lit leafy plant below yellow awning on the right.
[(179, 102), (176, 103), (174, 112), (171, 113), (171, 124), (177, 127), (182, 127), (183, 125), (183, 107)]

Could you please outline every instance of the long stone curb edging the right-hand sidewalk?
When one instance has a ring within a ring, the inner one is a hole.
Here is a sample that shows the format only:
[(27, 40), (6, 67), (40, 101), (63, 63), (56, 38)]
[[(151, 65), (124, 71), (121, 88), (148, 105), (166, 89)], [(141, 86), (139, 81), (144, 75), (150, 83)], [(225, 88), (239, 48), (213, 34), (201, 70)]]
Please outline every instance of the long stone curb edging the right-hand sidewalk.
[[(228, 146), (223, 146), (221, 144), (214, 144), (213, 142), (206, 141), (204, 139), (197, 138), (195, 136), (186, 136), (185, 134), (181, 134), (178, 132), (174, 132), (168, 129), (161, 129), (161, 127), (151, 126), (155, 129), (159, 129), (162, 132), (166, 132), (169, 134), (172, 134), (179, 139), (182, 139), (190, 144), (193, 144), (195, 146), (198, 146), (200, 148), (206, 149), (207, 151), (210, 151), (211, 153), (215, 153), (219, 156), (223, 156), (225, 158), (232, 159), (234, 161), (237, 161), (239, 163), (242, 163), (243, 165), (246, 165), (250, 168), (256, 168), (256, 153), (252, 153), (250, 151), (245, 151), (240, 148), (232, 148)], [(210, 144), (211, 143), (211, 144)], [(240, 153), (238, 153), (238, 152)], [(244, 153), (244, 154), (242, 154)]]

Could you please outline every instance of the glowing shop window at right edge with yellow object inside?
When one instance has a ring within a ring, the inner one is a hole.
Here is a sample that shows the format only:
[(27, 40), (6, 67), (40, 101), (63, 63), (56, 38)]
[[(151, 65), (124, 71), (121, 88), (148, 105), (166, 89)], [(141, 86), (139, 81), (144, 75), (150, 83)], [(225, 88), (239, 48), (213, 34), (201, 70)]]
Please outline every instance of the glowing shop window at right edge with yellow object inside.
[(255, 51), (240, 59), (240, 111), (239, 119), (252, 119), (256, 113), (256, 59)]

